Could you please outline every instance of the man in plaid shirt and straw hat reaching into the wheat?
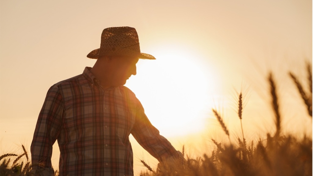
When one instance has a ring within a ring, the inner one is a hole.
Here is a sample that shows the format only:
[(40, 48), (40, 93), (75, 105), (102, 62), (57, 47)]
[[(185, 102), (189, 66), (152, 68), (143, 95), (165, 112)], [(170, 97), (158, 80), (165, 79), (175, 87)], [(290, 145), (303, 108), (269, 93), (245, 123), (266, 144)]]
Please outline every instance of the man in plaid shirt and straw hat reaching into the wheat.
[(31, 145), (35, 173), (53, 174), (56, 140), (60, 176), (133, 175), (130, 134), (159, 162), (180, 158), (181, 153), (151, 125), (135, 94), (123, 86), (136, 75), (139, 59), (155, 59), (140, 52), (136, 29), (104, 29), (100, 48), (87, 57), (97, 59), (92, 68), (56, 83), (47, 93)]

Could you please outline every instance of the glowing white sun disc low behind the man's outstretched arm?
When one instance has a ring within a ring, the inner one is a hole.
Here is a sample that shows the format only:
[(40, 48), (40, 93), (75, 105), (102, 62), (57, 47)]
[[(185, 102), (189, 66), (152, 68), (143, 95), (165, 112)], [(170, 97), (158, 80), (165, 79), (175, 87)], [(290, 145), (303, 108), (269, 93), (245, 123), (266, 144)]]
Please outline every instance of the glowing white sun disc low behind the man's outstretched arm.
[[(149, 53), (150, 54), (150, 53)], [(126, 83), (141, 101), (151, 123), (167, 136), (202, 130), (212, 106), (210, 85), (217, 80), (199, 55), (186, 48), (154, 48), (156, 60), (139, 60)]]

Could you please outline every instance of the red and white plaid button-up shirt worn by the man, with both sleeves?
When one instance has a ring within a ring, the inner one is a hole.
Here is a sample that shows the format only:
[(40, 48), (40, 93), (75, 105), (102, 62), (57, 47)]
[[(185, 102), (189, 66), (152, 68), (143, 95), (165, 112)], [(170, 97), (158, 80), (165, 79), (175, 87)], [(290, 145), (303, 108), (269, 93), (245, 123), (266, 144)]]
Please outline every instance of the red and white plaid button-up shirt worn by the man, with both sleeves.
[(133, 175), (129, 135), (160, 162), (177, 151), (159, 134), (135, 94), (125, 86), (106, 90), (86, 67), (83, 74), (53, 85), (40, 111), (31, 144), (32, 163), (51, 168), (52, 145), (60, 148), (59, 173)]

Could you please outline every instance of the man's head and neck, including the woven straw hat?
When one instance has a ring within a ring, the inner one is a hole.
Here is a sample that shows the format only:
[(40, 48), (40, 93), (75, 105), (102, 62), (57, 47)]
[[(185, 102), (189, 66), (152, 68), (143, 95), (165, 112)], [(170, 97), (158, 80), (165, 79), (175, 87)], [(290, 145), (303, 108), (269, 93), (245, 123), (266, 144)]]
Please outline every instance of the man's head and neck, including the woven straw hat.
[(100, 48), (91, 51), (88, 58), (97, 59), (91, 73), (102, 85), (124, 85), (131, 75), (136, 75), (138, 59), (155, 59), (140, 52), (135, 28), (105, 28), (101, 34)]

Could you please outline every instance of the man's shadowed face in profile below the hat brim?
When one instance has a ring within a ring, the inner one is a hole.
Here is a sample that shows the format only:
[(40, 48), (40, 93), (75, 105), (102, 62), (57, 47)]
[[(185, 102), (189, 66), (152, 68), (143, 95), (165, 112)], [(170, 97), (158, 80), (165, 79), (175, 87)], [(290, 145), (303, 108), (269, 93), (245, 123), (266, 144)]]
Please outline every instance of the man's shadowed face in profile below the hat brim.
[(112, 57), (112, 76), (115, 85), (124, 85), (131, 75), (136, 75), (138, 58), (129, 56)]

